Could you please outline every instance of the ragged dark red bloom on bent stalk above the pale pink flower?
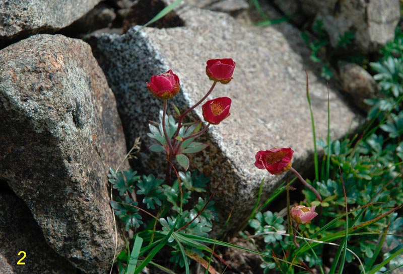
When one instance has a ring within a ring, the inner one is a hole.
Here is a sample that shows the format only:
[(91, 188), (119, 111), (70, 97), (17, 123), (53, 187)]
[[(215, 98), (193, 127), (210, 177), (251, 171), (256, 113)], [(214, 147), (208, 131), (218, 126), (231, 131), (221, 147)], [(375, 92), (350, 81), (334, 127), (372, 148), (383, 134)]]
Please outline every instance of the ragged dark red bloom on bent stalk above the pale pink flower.
[(291, 148), (272, 148), (256, 153), (255, 166), (266, 169), (273, 175), (279, 175), (291, 168), (294, 150)]

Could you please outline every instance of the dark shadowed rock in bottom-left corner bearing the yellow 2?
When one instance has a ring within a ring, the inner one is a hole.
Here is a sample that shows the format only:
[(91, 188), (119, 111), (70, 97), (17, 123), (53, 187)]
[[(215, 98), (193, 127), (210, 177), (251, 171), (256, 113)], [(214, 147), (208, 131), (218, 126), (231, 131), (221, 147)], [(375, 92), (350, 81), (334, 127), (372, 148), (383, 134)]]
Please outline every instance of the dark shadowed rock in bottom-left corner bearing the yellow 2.
[[(42, 231), (23, 201), (0, 195), (0, 272), (3, 274), (73, 274), (68, 260), (47, 245)], [(24, 259), (24, 251), (26, 256)], [(20, 253), (20, 255), (19, 255)], [(17, 264), (17, 262), (24, 264)]]

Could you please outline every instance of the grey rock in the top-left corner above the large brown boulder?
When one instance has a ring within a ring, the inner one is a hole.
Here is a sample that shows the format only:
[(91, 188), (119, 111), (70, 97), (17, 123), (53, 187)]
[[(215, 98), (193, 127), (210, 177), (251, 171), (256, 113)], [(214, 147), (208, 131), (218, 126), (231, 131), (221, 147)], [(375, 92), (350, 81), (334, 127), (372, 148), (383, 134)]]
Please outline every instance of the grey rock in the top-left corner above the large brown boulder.
[(0, 2), (0, 43), (39, 32), (55, 32), (94, 8), (100, 0), (8, 0)]

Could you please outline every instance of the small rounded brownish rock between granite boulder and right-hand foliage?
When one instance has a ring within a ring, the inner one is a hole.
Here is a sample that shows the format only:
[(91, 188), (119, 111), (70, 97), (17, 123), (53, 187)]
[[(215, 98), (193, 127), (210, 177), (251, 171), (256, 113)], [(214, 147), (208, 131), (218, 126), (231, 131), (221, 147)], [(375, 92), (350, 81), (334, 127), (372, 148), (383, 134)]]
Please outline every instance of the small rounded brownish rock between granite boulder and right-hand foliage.
[(371, 106), (364, 100), (375, 97), (378, 92), (378, 84), (372, 75), (361, 66), (346, 62), (339, 63), (339, 75), (344, 91), (353, 97), (360, 109), (368, 111)]

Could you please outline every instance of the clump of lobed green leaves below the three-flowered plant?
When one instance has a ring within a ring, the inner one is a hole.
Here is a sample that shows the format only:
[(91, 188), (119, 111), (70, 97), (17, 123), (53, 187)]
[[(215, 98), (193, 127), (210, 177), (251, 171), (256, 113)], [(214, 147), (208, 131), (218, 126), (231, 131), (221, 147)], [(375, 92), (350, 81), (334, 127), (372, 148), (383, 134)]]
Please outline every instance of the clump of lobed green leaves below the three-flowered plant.
[[(179, 230), (186, 235), (208, 237), (209, 232), (212, 230), (213, 222), (218, 220), (213, 201), (202, 197), (192, 199), (192, 193), (206, 192), (206, 185), (210, 181), (210, 178), (197, 170), (178, 172), (179, 179), (176, 179), (172, 186), (163, 184), (164, 181), (156, 178), (153, 174), (139, 176), (136, 171), (131, 169), (116, 172), (111, 168), (110, 172), (109, 181), (112, 187), (119, 191), (120, 195), (115, 197), (115, 201), (111, 202), (115, 215), (123, 221), (127, 231), (130, 229), (140, 230), (140, 226), (143, 224), (145, 230), (140, 234), (142, 239), (151, 246), (153, 237), (158, 238), (158, 233), (161, 232), (169, 235), (169, 233)], [(139, 197), (143, 198), (141, 202), (133, 201), (131, 198), (132, 193), (135, 192)], [(181, 192), (182, 196), (180, 195)], [(182, 205), (186, 205), (189, 209), (182, 209)], [(143, 219), (139, 208), (157, 212), (159, 219), (151, 221)], [(154, 227), (154, 230), (149, 230), (155, 226), (156, 221), (159, 226)], [(140, 234), (136, 235), (139, 236)], [(204, 257), (203, 251), (194, 246), (181, 243), (175, 238), (175, 235), (172, 234), (167, 237), (166, 243), (160, 246), (160, 249), (164, 246), (165, 249), (171, 249), (169, 259), (171, 262), (177, 263), (180, 267), (188, 267), (190, 259), (183, 252), (197, 254), (200, 258)], [(154, 239), (154, 241), (157, 240)], [(138, 252), (139, 250), (136, 249), (135, 251)], [(143, 254), (143, 252), (141, 251), (140, 253)], [(127, 253), (128, 251), (124, 251), (118, 257), (118, 265), (120, 265), (120, 269), (123, 269), (123, 272), (127, 271), (127, 269), (135, 269), (135, 265), (129, 263)], [(156, 254), (153, 254), (153, 256)], [(137, 262), (138, 260), (135, 261)], [(144, 263), (141, 260), (139, 262)]]

